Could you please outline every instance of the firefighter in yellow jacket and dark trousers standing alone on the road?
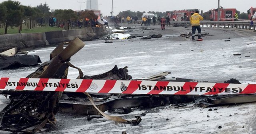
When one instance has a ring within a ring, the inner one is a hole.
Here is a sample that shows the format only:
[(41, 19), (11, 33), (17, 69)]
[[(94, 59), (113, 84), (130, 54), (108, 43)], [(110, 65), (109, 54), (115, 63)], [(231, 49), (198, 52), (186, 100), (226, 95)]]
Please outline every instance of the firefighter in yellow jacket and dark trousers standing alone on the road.
[(192, 40), (195, 40), (196, 30), (198, 30), (198, 39), (201, 38), (201, 27), (200, 27), (200, 20), (204, 20), (202, 16), (199, 15), (199, 11), (196, 12), (190, 18), (190, 24), (192, 26)]

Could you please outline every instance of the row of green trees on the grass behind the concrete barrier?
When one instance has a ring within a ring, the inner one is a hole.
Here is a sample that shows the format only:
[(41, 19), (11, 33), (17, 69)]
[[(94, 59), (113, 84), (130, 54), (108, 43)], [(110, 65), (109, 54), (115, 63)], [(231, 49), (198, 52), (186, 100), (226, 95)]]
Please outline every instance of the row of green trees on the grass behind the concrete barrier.
[[(51, 16), (55, 16), (61, 23), (67, 24), (67, 22), (76, 21), (77, 19), (90, 18), (96, 19), (98, 16), (93, 11), (80, 11), (76, 12), (69, 10), (56, 10), (51, 13), (49, 6), (39, 4), (36, 7), (21, 5), (18, 1), (4, 1), (0, 3), (0, 28), (4, 28), (4, 34), (7, 34), (8, 27), (19, 27), (19, 33), (22, 30), (22, 24), (26, 24), (27, 29), (34, 28), (37, 25), (45, 26), (48, 24), (48, 19)], [(70, 23), (68, 23), (70, 24)], [(69, 27), (66, 27), (66, 30)]]

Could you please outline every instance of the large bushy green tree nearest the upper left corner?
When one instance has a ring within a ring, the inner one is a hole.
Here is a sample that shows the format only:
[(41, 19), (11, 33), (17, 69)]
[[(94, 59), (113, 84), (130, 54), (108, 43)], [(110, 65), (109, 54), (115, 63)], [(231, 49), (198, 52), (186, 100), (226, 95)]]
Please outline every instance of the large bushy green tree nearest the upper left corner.
[(18, 1), (5, 1), (2, 4), (6, 7), (6, 20), (4, 34), (7, 34), (8, 26), (19, 26), (22, 23), (24, 9)]

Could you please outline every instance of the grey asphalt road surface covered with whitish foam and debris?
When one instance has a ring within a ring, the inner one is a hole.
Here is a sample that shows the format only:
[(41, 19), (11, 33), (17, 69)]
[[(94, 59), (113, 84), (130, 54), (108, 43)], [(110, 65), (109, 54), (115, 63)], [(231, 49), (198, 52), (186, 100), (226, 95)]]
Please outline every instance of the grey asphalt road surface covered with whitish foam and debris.
[[(104, 40), (85, 41), (85, 47), (71, 58), (71, 63), (80, 67), (84, 75), (97, 75), (109, 71), (118, 65), (128, 66), (133, 79), (148, 77), (169, 71), (167, 79), (173, 77), (196, 79), (198, 81), (221, 82), (231, 78), (241, 83), (256, 83), (256, 38), (249, 30), (231, 28), (202, 28), (204, 41), (192, 41), (180, 37), (191, 28), (149, 26), (154, 30), (142, 30), (145, 26), (121, 24), (132, 27), (128, 34), (148, 36), (163, 35), (162, 38), (142, 40)], [(109, 30), (111, 31), (111, 30)], [(229, 40), (229, 41), (225, 41)], [(48, 61), (54, 47), (37, 49), (29, 54), (40, 56), (42, 62)], [(241, 54), (234, 56), (234, 54)], [(26, 77), (37, 67), (26, 67), (0, 71), (1, 77)], [(68, 78), (79, 75), (70, 69)], [(0, 97), (0, 108), (8, 102)], [(57, 124), (46, 125), (40, 134), (254, 134), (256, 132), (255, 103), (233, 106), (220, 106), (218, 110), (208, 111), (192, 103), (182, 108), (172, 105), (152, 108), (134, 109), (130, 114), (121, 115), (132, 120), (135, 115), (145, 112), (139, 126), (115, 123), (106, 118), (87, 121), (86, 115), (59, 112)], [(110, 114), (106, 112), (107, 114)], [(120, 116), (118, 114), (110, 114)], [(207, 117), (209, 115), (210, 117)], [(230, 116), (231, 115), (231, 116)], [(168, 120), (166, 120), (168, 118)], [(221, 129), (218, 126), (222, 126)]]

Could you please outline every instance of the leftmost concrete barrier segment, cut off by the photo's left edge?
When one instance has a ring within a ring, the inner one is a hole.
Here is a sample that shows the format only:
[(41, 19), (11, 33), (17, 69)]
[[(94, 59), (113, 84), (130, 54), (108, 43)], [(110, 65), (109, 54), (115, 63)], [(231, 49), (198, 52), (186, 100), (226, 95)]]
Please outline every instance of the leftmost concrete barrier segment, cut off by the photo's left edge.
[(25, 48), (20, 34), (0, 35), (0, 52), (14, 47), (17, 47), (18, 49)]

